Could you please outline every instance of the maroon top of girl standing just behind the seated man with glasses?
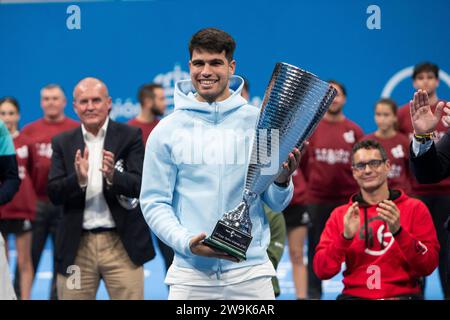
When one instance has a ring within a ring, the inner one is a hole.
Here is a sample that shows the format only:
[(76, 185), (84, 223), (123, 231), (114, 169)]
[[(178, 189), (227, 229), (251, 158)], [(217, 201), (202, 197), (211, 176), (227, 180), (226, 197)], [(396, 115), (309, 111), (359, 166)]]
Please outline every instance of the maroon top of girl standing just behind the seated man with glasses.
[(390, 189), (400, 189), (411, 193), (411, 177), (409, 172), (409, 139), (403, 133), (397, 132), (388, 139), (378, 138), (374, 133), (364, 136), (361, 140), (378, 141), (386, 151), (391, 170), (388, 174)]

